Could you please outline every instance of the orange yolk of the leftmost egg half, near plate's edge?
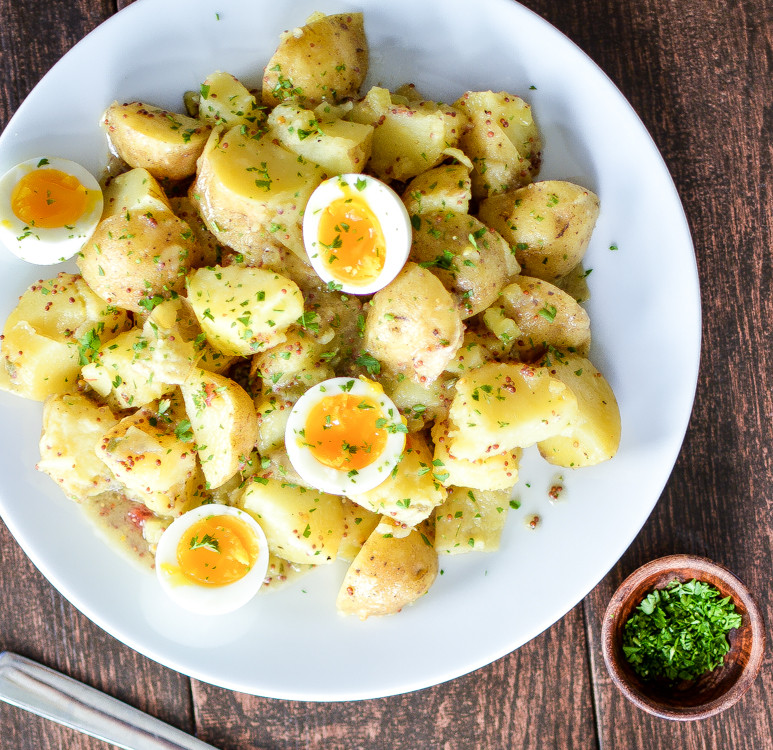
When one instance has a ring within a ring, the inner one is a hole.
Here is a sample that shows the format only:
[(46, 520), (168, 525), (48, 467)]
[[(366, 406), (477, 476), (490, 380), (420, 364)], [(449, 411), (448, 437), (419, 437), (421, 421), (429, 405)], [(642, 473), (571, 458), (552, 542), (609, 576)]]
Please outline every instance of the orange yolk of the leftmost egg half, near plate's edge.
[(86, 212), (90, 192), (77, 177), (58, 169), (36, 169), (16, 183), (11, 210), (29, 226), (71, 226)]

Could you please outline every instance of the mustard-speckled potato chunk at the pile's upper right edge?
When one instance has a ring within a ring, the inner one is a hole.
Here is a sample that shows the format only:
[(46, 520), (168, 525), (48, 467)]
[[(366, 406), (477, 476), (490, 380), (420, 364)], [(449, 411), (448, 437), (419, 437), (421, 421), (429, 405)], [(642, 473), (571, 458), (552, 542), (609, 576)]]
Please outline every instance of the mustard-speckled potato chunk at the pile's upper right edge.
[(454, 107), (469, 118), (460, 146), (472, 159), (472, 192), (495, 195), (531, 182), (542, 144), (531, 107), (503, 91), (468, 91)]

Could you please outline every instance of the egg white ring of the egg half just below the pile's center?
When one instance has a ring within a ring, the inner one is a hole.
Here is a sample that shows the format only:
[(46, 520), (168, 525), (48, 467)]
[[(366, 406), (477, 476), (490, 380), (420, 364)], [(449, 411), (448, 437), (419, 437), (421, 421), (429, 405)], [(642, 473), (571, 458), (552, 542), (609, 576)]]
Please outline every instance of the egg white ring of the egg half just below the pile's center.
[[(305, 440), (310, 411), (326, 396), (349, 393), (375, 401), (386, 420), (386, 445), (380, 456), (357, 471), (341, 471), (319, 462)], [(309, 388), (295, 403), (285, 428), (285, 447), (293, 468), (308, 484), (331, 495), (356, 495), (381, 484), (400, 461), (405, 448), (405, 426), (397, 407), (383, 389), (365, 378), (330, 378)]]

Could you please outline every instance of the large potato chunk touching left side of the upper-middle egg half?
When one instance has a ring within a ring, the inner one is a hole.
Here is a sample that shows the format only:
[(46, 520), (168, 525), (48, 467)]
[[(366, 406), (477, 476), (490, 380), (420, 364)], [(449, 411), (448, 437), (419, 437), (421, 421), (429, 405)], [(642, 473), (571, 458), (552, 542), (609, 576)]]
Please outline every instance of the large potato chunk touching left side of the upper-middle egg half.
[(255, 248), (279, 243), (305, 260), (303, 210), (323, 176), (321, 167), (299, 161), (272, 138), (215, 128), (190, 196), (222, 244), (250, 257)]

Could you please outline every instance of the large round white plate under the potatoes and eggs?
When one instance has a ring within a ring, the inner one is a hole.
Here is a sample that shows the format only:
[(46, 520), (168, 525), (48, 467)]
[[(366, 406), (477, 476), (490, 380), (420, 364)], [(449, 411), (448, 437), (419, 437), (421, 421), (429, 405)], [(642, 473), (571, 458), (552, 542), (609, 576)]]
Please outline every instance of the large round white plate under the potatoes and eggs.
[[(697, 380), (700, 301), (692, 244), (673, 183), (643, 125), (603, 73), (539, 17), (507, 0), (139, 0), (48, 73), (0, 138), (0, 172), (58, 155), (99, 172), (97, 127), (114, 99), (179, 108), (216, 69), (251, 84), (279, 33), (315, 10), (364, 10), (368, 84), (415, 82), (453, 101), (468, 89), (528, 99), (544, 134), (542, 178), (593, 189), (602, 212), (587, 254), (592, 359), (620, 402), (611, 462), (568, 472), (527, 452), (496, 554), (441, 561), (429, 594), (401, 614), (336, 614), (344, 567), (319, 569), (240, 613), (194, 617), (97, 536), (38, 458), (39, 404), (0, 394), (0, 511), (32, 561), (106, 631), (174, 669), (276, 698), (372, 698), (433, 685), (521, 646), (580, 601), (647, 519), (676, 460)], [(532, 88), (532, 86), (534, 88)], [(616, 251), (610, 246), (617, 246)], [(51, 269), (51, 275), (58, 269)], [(0, 257), (0, 320), (48, 269)], [(526, 484), (528, 483), (528, 484)], [(537, 512), (536, 531), (524, 518)]]

